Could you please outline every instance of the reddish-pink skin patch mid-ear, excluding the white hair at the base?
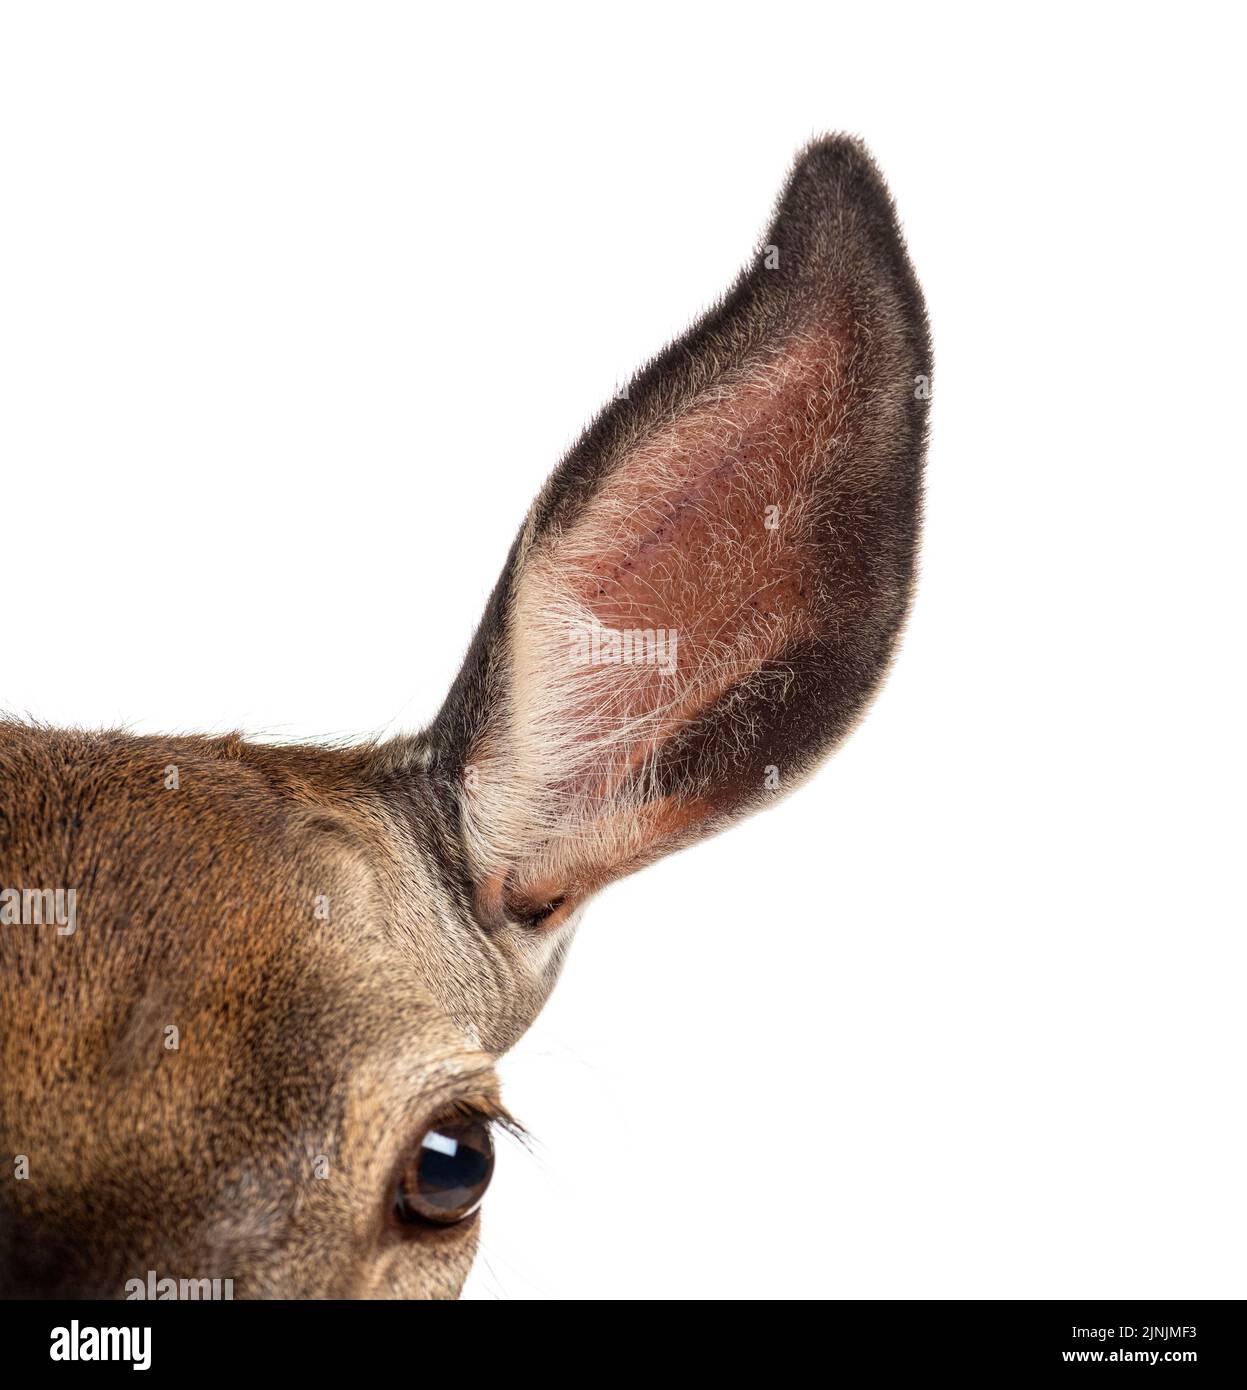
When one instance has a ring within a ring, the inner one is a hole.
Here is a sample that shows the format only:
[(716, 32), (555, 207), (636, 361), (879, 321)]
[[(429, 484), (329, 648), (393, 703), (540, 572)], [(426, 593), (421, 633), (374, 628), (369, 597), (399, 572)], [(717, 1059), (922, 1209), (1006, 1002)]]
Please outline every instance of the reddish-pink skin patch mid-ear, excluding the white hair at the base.
[(802, 335), (720, 382), (639, 441), (535, 567), (539, 603), (570, 599), (603, 628), (676, 634), (667, 667), (608, 666), (576, 682), (581, 727), (609, 738), (612, 723), (648, 724), (621, 739), (626, 764), (820, 630), (829, 470), (847, 442), (840, 357), (836, 338)]

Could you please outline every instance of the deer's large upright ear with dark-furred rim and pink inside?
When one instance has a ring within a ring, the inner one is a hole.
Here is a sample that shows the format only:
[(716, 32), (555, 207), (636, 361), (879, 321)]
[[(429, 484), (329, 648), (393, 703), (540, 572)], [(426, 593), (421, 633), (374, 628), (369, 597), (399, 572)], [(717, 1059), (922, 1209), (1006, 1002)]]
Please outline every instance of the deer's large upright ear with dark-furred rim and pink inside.
[(820, 140), (546, 484), (431, 730), (485, 919), (559, 920), (849, 730), (906, 609), (929, 379), (883, 179)]

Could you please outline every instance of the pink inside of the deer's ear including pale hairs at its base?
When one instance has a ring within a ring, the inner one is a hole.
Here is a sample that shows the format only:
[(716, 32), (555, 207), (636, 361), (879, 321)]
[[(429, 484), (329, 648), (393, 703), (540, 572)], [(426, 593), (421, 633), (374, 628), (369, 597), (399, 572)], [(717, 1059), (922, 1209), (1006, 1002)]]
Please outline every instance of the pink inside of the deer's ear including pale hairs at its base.
[[(620, 445), (581, 512), (525, 556), (507, 735), (478, 752), (488, 781), (473, 808), (513, 916), (562, 901), (544, 919), (557, 924), (730, 810), (730, 764), (755, 737), (748, 702), (852, 614), (872, 480), (854, 463), (861, 343), (837, 320), (852, 322), (827, 314), (719, 371)], [(587, 628), (655, 648), (576, 659)], [(666, 745), (712, 708), (722, 760), (683, 781)]]

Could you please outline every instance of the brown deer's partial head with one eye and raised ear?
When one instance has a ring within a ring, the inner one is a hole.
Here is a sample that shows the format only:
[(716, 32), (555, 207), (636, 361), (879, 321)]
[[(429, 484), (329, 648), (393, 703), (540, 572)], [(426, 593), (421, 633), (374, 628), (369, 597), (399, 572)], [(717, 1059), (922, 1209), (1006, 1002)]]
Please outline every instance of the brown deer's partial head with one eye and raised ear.
[(884, 179), (817, 138), (546, 481), (421, 733), (0, 724), (0, 1294), (459, 1297), (498, 1063), (589, 899), (884, 680), (930, 378)]

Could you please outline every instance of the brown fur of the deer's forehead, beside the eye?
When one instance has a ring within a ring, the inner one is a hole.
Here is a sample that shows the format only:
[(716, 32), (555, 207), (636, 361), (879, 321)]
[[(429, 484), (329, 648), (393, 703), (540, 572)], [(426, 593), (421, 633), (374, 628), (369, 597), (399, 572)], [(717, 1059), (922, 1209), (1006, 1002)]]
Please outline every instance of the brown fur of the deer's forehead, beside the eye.
[[(360, 1261), (328, 1257), (375, 1244), (393, 1145), (492, 1094), (470, 980), (502, 972), (382, 810), (384, 769), (0, 726), (0, 887), (76, 895), (72, 934), (0, 926), (0, 1148), (31, 1168), (0, 1187), (10, 1277), (115, 1295), (124, 1251), (257, 1291), (303, 1241), (300, 1287), (341, 1294), (328, 1270)], [(317, 1156), (342, 1180), (309, 1184)]]

